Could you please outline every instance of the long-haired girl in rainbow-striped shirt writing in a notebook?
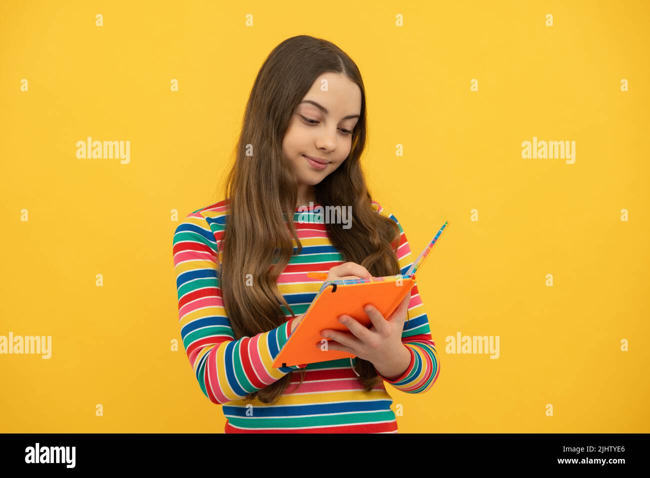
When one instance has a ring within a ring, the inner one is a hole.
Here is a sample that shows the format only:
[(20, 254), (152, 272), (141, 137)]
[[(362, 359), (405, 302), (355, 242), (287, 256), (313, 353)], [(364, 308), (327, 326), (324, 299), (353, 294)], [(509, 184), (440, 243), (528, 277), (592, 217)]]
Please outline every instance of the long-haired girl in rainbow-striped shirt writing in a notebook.
[[(413, 262), (402, 226), (367, 189), (365, 140), (356, 64), (326, 40), (289, 38), (257, 74), (225, 198), (175, 231), (183, 345), (227, 433), (396, 432), (383, 382), (423, 393), (438, 377), (417, 285), (391, 317), (367, 307), (372, 328), (341, 315), (349, 333), (322, 332), (356, 358), (271, 365), (322, 285), (307, 272), (369, 278)], [(351, 227), (325, 221), (326, 205), (349, 206)]]

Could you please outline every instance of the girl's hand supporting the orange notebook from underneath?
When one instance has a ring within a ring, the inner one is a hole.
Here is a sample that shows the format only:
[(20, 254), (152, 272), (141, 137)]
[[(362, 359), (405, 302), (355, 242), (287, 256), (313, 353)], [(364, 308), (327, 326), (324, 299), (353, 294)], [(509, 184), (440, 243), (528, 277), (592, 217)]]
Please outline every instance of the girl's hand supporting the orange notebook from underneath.
[[(349, 352), (359, 358), (369, 360), (375, 367), (389, 364), (391, 358), (399, 357), (404, 352), (402, 350), (404, 349), (402, 331), (408, 315), (410, 300), (411, 293), (409, 292), (388, 319), (385, 319), (374, 306), (367, 304), (364, 310), (372, 322), (370, 328), (361, 325), (350, 315), (339, 315), (339, 322), (352, 333), (325, 329), (320, 331), (320, 336), (335, 340), (328, 341), (328, 350)], [(318, 343), (317, 347), (320, 349), (321, 344)]]

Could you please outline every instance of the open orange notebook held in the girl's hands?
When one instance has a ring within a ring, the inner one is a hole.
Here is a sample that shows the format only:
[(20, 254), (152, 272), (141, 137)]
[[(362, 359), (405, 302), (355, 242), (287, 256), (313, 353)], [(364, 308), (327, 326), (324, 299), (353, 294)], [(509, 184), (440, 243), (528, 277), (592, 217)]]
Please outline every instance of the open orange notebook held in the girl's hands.
[(372, 322), (363, 310), (365, 304), (372, 304), (383, 317), (389, 317), (413, 288), (415, 272), (422, 267), (424, 259), (429, 256), (440, 235), (447, 230), (448, 224), (449, 221), (443, 224), (434, 239), (422, 250), (404, 274), (325, 282), (309, 304), (302, 321), (279, 351), (273, 366), (276, 368), (288, 365), (305, 367), (316, 362), (353, 358), (354, 355), (348, 352), (322, 350), (324, 345), (322, 341), (326, 339), (320, 336), (320, 331), (330, 329), (350, 333), (350, 330), (337, 320), (341, 314), (350, 315), (370, 328)]

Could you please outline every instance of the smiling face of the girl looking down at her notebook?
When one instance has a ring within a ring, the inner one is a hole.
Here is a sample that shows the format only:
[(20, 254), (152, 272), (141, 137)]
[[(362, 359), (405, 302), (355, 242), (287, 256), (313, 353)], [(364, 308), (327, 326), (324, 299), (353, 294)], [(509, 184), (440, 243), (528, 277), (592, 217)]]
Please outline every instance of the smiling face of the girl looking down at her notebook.
[(345, 161), (359, 114), (359, 86), (341, 73), (317, 78), (298, 104), (282, 142), (283, 153), (298, 176), (299, 190), (320, 183)]

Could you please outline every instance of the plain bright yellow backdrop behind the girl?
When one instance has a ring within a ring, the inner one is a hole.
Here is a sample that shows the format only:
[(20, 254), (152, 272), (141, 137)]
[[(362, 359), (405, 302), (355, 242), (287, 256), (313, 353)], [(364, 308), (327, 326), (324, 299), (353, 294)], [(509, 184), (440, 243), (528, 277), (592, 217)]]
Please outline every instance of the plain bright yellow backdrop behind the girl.
[[(53, 340), (0, 355), (0, 432), (223, 432), (180, 342), (170, 211), (221, 198), (255, 74), (296, 34), (357, 62), (367, 180), (411, 248), (450, 220), (419, 275), (441, 372), (387, 386), (399, 431), (650, 431), (650, 3), (65, 4), (0, 3), (0, 335)], [(88, 136), (131, 163), (77, 159)], [(575, 164), (522, 159), (534, 136)], [(500, 358), (448, 354), (457, 332)]]

